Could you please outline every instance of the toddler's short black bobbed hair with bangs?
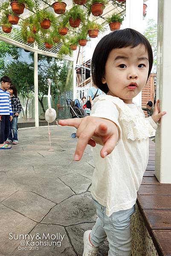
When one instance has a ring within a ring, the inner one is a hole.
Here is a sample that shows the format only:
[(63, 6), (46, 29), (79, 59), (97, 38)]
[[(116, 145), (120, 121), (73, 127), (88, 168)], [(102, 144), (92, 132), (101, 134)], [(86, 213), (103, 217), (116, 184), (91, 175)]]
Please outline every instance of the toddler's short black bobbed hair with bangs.
[(143, 44), (148, 52), (149, 70), (148, 77), (150, 76), (153, 65), (153, 52), (151, 45), (144, 35), (134, 29), (120, 29), (110, 32), (105, 35), (97, 44), (92, 61), (91, 61), (91, 73), (94, 84), (107, 93), (109, 88), (106, 84), (102, 84), (102, 77), (104, 76), (105, 65), (107, 58), (112, 49), (119, 49), (124, 47), (134, 48), (139, 44)]

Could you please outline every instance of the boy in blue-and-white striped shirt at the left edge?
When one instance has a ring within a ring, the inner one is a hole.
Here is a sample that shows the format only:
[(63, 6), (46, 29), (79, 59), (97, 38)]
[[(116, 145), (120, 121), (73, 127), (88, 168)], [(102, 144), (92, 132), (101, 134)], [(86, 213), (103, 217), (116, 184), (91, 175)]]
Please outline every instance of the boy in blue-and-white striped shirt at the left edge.
[(9, 122), (12, 121), (12, 107), (10, 94), (7, 92), (11, 84), (8, 76), (0, 79), (0, 149), (9, 149), (11, 146), (4, 143), (9, 135)]

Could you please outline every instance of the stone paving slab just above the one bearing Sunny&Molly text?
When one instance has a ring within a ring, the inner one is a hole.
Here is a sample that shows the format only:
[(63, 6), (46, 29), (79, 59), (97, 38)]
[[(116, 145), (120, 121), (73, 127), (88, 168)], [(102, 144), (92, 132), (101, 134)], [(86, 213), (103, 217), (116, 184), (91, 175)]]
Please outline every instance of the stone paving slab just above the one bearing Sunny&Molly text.
[(34, 221), (41, 221), (49, 210), (55, 206), (55, 203), (35, 193), (25, 191), (14, 193), (3, 201), (3, 204)]

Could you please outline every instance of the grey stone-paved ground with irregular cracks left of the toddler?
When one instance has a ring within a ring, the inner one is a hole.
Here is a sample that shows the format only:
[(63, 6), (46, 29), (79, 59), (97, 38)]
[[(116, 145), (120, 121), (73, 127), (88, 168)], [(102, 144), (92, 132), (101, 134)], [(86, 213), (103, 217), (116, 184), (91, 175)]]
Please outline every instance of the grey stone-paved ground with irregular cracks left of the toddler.
[[(96, 221), (91, 147), (72, 161), (75, 128), (50, 129), (54, 151), (47, 127), (20, 129), (20, 143), (0, 151), (0, 256), (82, 256), (84, 231)], [(99, 256), (107, 251), (105, 241)]]

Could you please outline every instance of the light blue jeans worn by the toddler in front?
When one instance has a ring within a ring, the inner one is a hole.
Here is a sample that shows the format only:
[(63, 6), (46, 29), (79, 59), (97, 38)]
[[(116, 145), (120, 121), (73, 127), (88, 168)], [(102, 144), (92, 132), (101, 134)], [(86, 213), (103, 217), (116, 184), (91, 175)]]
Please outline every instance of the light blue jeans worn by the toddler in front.
[(109, 242), (108, 256), (130, 256), (131, 255), (131, 233), (130, 216), (135, 211), (135, 205), (119, 212), (113, 212), (108, 217), (106, 207), (99, 204), (93, 198), (98, 218), (90, 233), (91, 243), (99, 247), (107, 237)]

